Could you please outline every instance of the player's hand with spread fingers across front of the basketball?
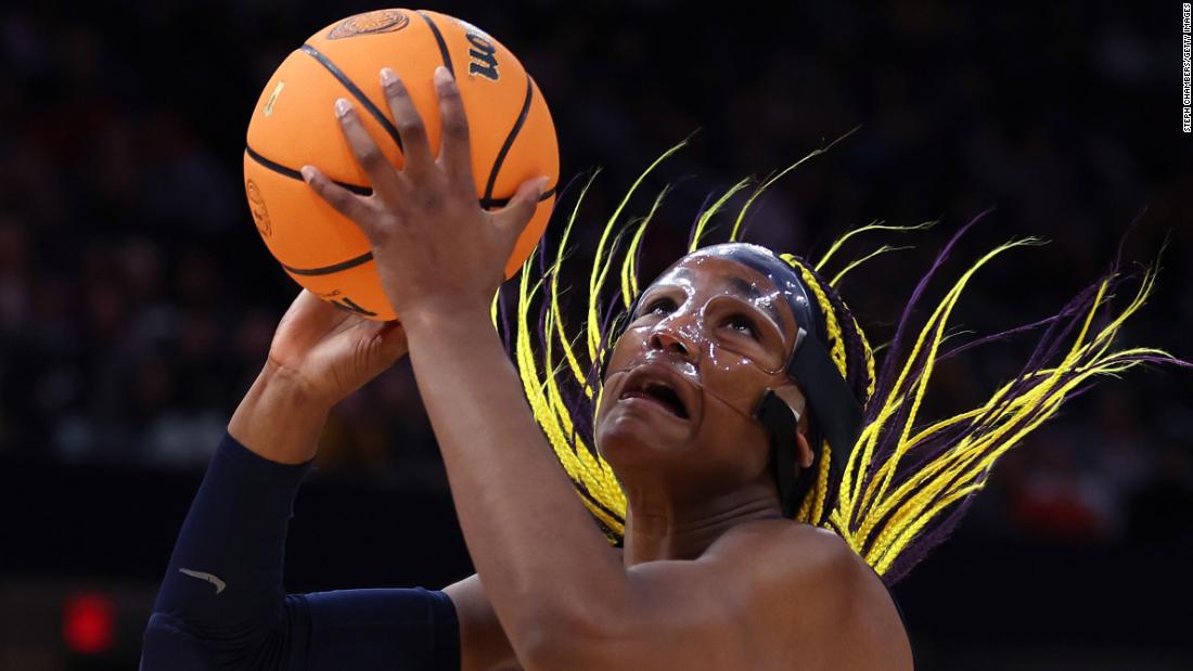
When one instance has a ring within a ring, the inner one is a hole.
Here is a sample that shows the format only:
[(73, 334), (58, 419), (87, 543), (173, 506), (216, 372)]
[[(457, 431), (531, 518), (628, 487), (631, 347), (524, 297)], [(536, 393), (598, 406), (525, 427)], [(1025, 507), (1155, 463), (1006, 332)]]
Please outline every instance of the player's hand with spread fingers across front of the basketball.
[(382, 88), (402, 138), (403, 169), (389, 163), (342, 98), (335, 102), (335, 113), (369, 175), (372, 195), (348, 192), (314, 166), (302, 168), (311, 188), (367, 236), (385, 296), (402, 321), (424, 310), (488, 310), (518, 235), (534, 216), (548, 181), (531, 179), (503, 209), (482, 210), (459, 87), (446, 68), (437, 69), (434, 77), (443, 124), (438, 159), (406, 86), (385, 68)]

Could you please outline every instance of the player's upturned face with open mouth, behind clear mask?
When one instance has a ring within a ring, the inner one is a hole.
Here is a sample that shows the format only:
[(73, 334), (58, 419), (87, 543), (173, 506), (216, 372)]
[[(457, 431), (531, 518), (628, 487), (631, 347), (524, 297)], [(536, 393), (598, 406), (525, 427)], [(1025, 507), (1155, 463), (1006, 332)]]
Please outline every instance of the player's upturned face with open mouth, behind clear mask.
[(596, 445), (623, 480), (666, 472), (707, 492), (766, 471), (754, 414), (768, 389), (790, 384), (797, 325), (774, 282), (723, 251), (672, 266), (614, 344)]

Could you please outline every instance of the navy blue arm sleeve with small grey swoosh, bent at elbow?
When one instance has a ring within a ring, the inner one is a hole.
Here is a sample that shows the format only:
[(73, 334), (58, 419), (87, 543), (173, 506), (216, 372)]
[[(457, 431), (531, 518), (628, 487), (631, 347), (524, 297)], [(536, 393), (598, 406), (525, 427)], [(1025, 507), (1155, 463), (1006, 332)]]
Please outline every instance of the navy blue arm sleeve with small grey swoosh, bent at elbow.
[(309, 468), (224, 436), (174, 545), (142, 670), (459, 669), (459, 625), (441, 591), (285, 595), (286, 527)]

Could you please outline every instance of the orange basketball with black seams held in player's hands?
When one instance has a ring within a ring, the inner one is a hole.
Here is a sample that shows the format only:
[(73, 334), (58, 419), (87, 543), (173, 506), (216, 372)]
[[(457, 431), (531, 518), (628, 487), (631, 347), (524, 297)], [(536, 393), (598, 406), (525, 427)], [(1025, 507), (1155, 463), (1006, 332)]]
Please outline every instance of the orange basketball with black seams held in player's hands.
[(560, 149), (534, 80), (508, 49), (476, 26), (421, 10), (377, 10), (336, 21), (286, 57), (265, 85), (248, 124), (245, 192), (270, 253), (299, 285), (372, 319), (395, 315), (369, 241), (307, 186), (298, 169), (310, 163), (350, 191), (371, 192), (340, 132), (333, 112), (338, 98), (352, 101), (382, 151), (402, 167), (397, 130), (378, 80), (384, 67), (402, 79), (438, 151), (432, 76), (440, 64), (456, 76), (468, 111), (481, 205), (501, 207), (524, 181), (550, 178), (534, 218), (506, 262), (509, 278), (546, 228)]

